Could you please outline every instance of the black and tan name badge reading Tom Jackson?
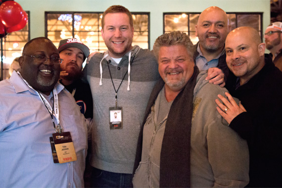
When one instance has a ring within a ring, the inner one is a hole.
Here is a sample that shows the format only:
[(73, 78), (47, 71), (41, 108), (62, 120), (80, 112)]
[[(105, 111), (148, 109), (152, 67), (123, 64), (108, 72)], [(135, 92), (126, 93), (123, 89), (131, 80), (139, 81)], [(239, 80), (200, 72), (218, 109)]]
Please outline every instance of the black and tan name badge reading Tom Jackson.
[(59, 163), (76, 161), (77, 157), (70, 132), (54, 133), (52, 136)]

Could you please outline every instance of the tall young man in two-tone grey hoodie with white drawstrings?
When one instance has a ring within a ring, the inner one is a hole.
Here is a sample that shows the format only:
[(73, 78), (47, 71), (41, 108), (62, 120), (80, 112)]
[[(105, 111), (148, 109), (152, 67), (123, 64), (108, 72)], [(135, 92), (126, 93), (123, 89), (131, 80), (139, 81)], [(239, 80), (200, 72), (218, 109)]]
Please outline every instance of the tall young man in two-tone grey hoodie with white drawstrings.
[[(92, 187), (130, 187), (141, 123), (150, 93), (159, 79), (153, 53), (132, 46), (133, 19), (120, 5), (102, 17), (108, 48), (85, 67), (94, 101)], [(117, 114), (119, 121), (110, 121)]]

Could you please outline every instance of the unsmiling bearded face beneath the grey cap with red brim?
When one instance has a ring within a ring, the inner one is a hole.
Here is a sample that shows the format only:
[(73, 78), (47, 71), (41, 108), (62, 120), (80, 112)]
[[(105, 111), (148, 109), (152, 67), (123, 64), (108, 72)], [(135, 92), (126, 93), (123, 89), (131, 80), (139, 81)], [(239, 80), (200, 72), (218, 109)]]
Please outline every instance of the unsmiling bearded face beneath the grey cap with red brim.
[(80, 77), (82, 64), (84, 62), (84, 54), (77, 47), (68, 47), (60, 52), (60, 58), (63, 59), (60, 67), (61, 71), (66, 71), (68, 76), (64, 79), (75, 80)]

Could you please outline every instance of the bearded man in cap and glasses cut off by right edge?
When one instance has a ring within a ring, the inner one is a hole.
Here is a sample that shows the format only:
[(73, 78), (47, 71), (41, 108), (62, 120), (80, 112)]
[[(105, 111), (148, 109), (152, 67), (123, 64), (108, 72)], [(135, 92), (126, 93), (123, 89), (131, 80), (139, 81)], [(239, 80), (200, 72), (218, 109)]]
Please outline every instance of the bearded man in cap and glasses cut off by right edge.
[(266, 48), (270, 50), (273, 63), (282, 71), (282, 22), (270, 24), (264, 34)]

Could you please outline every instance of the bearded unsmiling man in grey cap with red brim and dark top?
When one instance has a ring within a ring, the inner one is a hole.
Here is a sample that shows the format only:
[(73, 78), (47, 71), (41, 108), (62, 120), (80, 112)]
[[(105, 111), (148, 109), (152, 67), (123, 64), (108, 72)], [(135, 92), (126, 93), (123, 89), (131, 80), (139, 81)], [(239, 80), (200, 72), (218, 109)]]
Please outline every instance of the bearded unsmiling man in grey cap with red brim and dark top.
[(60, 83), (74, 96), (85, 118), (93, 117), (93, 100), (89, 84), (83, 82), (82, 63), (89, 56), (89, 48), (80, 40), (64, 39), (59, 43), (61, 63)]

